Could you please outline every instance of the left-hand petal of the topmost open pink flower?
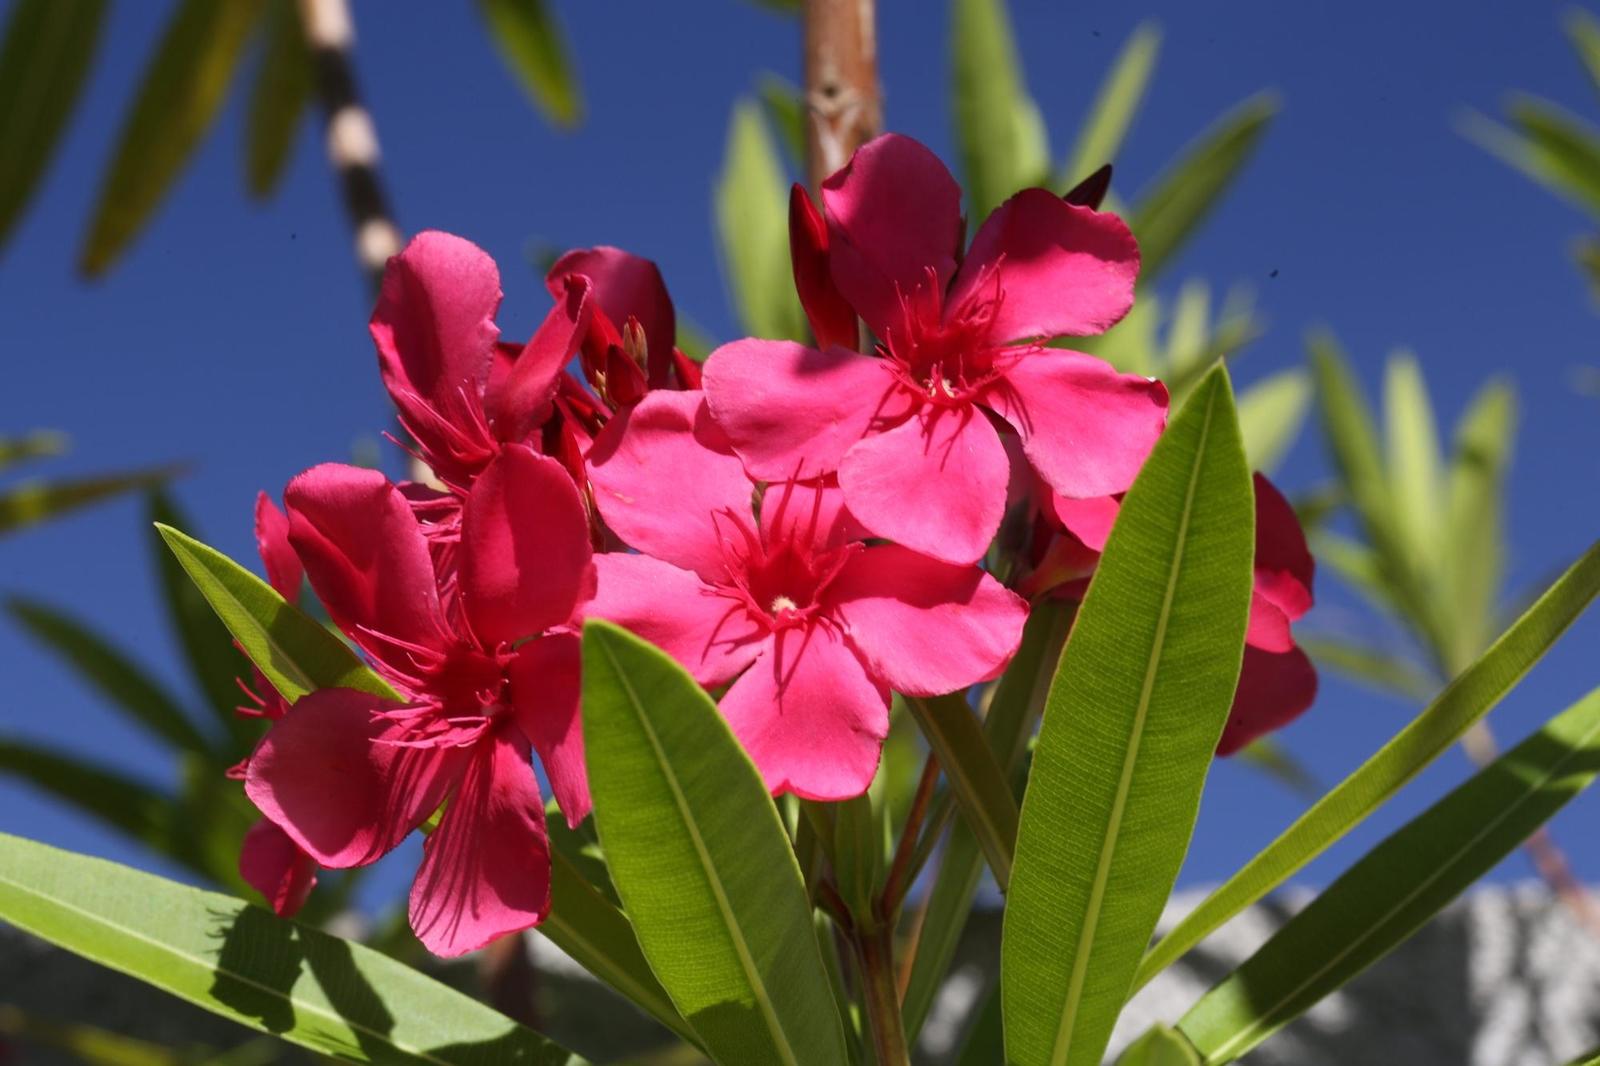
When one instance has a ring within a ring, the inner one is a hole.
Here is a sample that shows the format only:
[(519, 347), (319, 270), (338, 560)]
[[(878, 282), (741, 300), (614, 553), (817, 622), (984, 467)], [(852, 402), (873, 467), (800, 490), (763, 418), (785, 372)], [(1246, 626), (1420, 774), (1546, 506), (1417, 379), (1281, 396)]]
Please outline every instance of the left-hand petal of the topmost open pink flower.
[(706, 360), (706, 403), (763, 482), (821, 477), (875, 423), (909, 415), (882, 359), (794, 341), (734, 341)]

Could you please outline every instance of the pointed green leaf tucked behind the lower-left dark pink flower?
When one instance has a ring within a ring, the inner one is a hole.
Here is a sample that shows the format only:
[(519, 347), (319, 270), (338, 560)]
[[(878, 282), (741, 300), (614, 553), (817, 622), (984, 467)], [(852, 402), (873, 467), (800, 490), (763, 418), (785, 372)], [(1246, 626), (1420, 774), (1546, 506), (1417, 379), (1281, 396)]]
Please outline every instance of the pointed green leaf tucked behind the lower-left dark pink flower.
[(384, 679), (317, 619), (237, 562), (168, 525), (155, 527), (184, 573), (285, 699), (318, 688), (355, 688), (398, 699)]

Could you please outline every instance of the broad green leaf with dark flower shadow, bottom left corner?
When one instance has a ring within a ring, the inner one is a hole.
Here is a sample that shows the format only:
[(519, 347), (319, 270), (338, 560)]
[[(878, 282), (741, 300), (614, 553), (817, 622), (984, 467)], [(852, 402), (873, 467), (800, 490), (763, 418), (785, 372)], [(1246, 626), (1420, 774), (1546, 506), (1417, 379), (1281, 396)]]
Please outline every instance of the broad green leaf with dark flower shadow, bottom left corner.
[(362, 944), (6, 834), (0, 919), (243, 1026), (349, 1061), (582, 1063)]

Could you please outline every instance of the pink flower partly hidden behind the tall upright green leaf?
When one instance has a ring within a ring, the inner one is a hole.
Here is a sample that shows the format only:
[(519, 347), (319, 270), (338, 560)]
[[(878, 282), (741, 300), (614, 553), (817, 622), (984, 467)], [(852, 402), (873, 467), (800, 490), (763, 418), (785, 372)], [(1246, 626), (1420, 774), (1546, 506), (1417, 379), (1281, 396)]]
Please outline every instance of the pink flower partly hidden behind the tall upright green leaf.
[[(1291, 623), (1312, 607), (1317, 563), (1294, 509), (1262, 474), (1256, 474), (1256, 576), (1245, 631), (1245, 663), (1234, 691), (1219, 755), (1283, 728), (1317, 699), (1317, 667), (1294, 643)], [(1106, 549), (1120, 499), (1064, 499), (1046, 493), (1043, 522), (1059, 535), (1048, 541), (1019, 589), (1027, 595), (1082, 599)], [(1043, 543), (1045, 538), (1037, 538)]]

